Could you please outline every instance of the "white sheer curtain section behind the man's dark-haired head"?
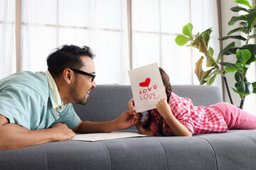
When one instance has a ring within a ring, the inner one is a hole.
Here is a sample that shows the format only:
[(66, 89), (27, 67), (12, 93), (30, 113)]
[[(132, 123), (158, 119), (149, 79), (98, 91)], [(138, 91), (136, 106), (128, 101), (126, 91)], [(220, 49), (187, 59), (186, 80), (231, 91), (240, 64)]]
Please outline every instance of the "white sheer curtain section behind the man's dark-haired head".
[(46, 71), (60, 45), (95, 52), (97, 84), (128, 84), (126, 0), (23, 0), (21, 69)]

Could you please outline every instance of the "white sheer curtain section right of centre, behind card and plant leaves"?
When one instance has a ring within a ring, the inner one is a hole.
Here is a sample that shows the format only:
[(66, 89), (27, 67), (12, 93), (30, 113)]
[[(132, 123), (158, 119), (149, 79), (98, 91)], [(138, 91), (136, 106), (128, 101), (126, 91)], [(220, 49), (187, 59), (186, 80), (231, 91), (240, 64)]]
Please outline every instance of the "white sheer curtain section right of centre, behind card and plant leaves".
[[(175, 42), (187, 23), (193, 24), (194, 35), (213, 28), (209, 46), (214, 49), (214, 57), (218, 57), (216, 0), (132, 1), (132, 67), (157, 62), (169, 74), (171, 84), (199, 84), (193, 72), (202, 53)], [(221, 77), (213, 85), (221, 90)]]

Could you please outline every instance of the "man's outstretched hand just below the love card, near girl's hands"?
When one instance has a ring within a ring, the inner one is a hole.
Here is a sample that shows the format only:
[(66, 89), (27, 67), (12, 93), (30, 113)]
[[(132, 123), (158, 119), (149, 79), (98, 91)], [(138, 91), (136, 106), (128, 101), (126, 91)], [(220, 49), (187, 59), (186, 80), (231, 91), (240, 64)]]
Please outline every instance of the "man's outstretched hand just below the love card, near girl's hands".
[(135, 113), (134, 111), (126, 111), (119, 115), (117, 120), (117, 128), (118, 130), (127, 129), (136, 125), (139, 122), (139, 113)]

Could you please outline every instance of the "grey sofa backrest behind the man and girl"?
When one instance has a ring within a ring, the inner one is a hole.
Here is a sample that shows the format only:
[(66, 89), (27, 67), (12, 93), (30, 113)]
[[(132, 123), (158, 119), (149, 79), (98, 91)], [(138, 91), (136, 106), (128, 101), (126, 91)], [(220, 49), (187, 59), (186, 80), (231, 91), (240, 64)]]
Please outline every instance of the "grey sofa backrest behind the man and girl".
[[(178, 96), (191, 98), (194, 106), (209, 106), (223, 101), (216, 86), (173, 85), (173, 91)], [(130, 98), (131, 86), (97, 85), (90, 93), (86, 105), (73, 106), (82, 120), (101, 122), (117, 118), (124, 111), (128, 111), (127, 103)]]

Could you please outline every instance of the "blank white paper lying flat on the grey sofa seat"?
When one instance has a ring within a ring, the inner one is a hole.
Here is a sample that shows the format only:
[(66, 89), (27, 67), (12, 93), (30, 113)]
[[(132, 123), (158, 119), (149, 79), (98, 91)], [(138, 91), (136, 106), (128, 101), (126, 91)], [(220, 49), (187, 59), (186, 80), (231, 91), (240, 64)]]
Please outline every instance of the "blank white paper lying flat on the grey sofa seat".
[(145, 137), (137, 132), (110, 132), (110, 133), (89, 133), (89, 134), (76, 134), (72, 140), (82, 141), (99, 141), (99, 140), (112, 140), (126, 137)]

